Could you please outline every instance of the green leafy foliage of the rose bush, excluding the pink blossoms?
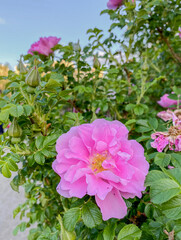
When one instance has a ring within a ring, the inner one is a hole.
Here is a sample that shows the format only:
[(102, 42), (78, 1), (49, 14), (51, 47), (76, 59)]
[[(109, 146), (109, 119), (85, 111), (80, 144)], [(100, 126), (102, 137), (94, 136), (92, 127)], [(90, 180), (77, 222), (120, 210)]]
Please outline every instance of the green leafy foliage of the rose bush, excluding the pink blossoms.
[[(181, 154), (158, 153), (150, 144), (152, 133), (168, 128), (156, 117), (163, 110), (157, 101), (165, 93), (174, 100), (181, 95), (180, 9), (179, 0), (126, 0), (115, 11), (102, 11), (112, 21), (108, 33), (89, 29), (84, 48), (57, 45), (56, 61), (54, 55), (22, 57), (27, 71), (36, 62), (36, 83), (25, 81), (24, 71), (1, 77), (8, 83), (0, 123), (6, 128), (16, 121), (22, 129), (0, 137), (0, 171), (7, 178), (15, 172), (10, 185), (17, 192), (23, 187), (26, 196), (14, 210), (22, 220), (14, 235), (36, 224), (28, 240), (181, 239)], [(125, 200), (124, 219), (102, 221), (94, 197), (65, 199), (56, 191), (56, 140), (96, 118), (123, 122), (150, 164), (143, 196)]]

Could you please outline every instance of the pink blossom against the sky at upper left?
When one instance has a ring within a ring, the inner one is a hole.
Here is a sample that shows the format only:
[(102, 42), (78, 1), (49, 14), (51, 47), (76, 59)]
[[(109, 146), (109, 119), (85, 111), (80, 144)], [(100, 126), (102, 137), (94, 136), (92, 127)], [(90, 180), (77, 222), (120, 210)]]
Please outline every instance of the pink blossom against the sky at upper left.
[(53, 53), (52, 48), (55, 47), (61, 38), (57, 37), (44, 37), (40, 38), (38, 42), (35, 42), (31, 45), (31, 48), (28, 50), (28, 53), (33, 55), (34, 52), (39, 54), (49, 56)]

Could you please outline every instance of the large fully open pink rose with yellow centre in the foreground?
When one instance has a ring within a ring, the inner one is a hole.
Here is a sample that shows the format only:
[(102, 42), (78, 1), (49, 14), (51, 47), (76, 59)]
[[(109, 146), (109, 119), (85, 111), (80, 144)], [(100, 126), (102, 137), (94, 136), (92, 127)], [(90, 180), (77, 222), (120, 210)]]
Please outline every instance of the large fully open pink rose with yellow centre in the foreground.
[(61, 177), (60, 195), (95, 196), (103, 220), (123, 218), (123, 198), (141, 198), (149, 164), (143, 147), (128, 140), (128, 130), (119, 121), (97, 119), (72, 127), (57, 140), (54, 171)]

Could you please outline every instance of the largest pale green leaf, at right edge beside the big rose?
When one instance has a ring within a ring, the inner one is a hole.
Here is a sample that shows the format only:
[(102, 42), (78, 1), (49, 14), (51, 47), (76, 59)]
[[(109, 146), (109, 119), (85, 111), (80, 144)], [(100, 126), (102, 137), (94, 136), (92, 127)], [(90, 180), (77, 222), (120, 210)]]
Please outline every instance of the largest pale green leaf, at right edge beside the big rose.
[(181, 192), (180, 186), (171, 179), (160, 179), (150, 190), (153, 203), (162, 204)]

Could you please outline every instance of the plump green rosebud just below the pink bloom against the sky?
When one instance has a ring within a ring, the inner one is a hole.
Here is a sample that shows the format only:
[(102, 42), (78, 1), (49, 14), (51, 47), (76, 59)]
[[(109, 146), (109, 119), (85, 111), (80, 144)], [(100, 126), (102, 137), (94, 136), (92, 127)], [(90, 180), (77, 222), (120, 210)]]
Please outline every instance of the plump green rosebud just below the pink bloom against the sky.
[(37, 66), (34, 66), (30, 69), (25, 81), (30, 87), (37, 87), (40, 84), (40, 75)]

